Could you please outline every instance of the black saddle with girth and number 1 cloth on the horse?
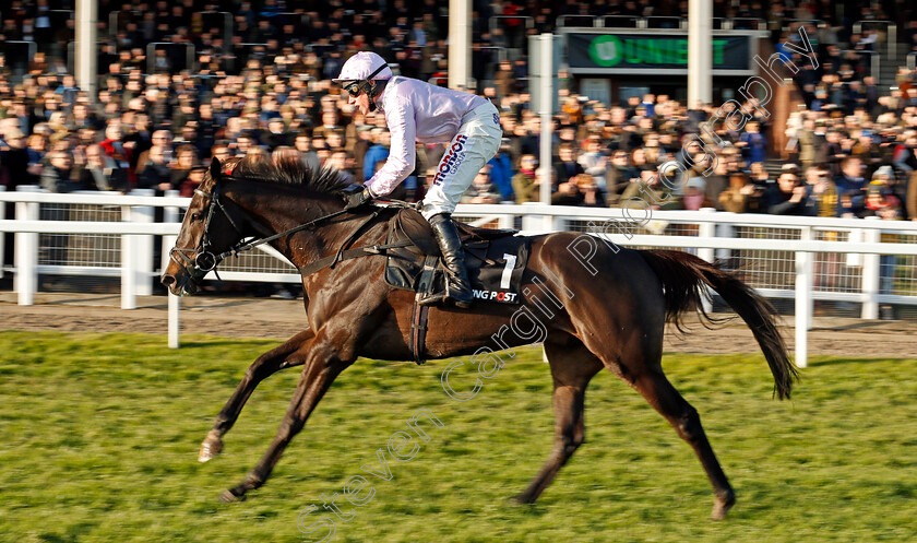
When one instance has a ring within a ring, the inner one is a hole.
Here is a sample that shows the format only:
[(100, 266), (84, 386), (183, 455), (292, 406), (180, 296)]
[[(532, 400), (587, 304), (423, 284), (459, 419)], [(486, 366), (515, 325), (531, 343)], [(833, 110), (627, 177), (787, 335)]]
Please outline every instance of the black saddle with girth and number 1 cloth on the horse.
[[(385, 282), (415, 293), (408, 347), (414, 362), (426, 362), (427, 315), (429, 306), (418, 302), (445, 288), (445, 269), (430, 223), (413, 209), (401, 209), (391, 221), (385, 245)], [(456, 222), (465, 252), (465, 268), (476, 300), (520, 304), (522, 273), (528, 262), (528, 238), (516, 231), (475, 228)]]

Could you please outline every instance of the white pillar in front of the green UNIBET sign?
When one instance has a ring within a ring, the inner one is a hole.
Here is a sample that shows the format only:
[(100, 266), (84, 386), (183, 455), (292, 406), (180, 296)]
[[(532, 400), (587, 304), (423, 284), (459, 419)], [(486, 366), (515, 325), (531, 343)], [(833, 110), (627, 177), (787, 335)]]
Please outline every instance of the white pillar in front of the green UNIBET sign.
[(688, 107), (713, 102), (713, 1), (688, 1)]

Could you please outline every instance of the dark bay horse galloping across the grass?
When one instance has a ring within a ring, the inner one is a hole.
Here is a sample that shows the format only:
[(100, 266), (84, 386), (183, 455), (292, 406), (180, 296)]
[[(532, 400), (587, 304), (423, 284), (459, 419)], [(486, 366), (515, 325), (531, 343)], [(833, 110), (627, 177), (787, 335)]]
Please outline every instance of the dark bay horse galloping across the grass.
[[(277, 166), (264, 160), (233, 158), (221, 165), (214, 161), (184, 215), (163, 283), (172, 294), (194, 293), (206, 272), (247, 238), (273, 237), (271, 246), (299, 269), (335, 255), (345, 241), (353, 241), (353, 247), (384, 243), (388, 220), (366, 222), (366, 212), (344, 211), (340, 191), (345, 186), (334, 172), (312, 173), (293, 163)], [(362, 227), (355, 237), (358, 224)], [(784, 399), (789, 397), (796, 369), (774, 311), (734, 273), (687, 252), (616, 252), (593, 241), (595, 250), (586, 267), (571, 251), (577, 239), (583, 243), (586, 237), (598, 239), (573, 233), (531, 238), (522, 292), (540, 291), (540, 300), (533, 295), (524, 305), (533, 315), (550, 316), (544, 319), (546, 333), (539, 339), (553, 378), (556, 430), (547, 462), (516, 499), (534, 503), (583, 442), (586, 386), (605, 368), (640, 392), (694, 449), (713, 484), (713, 517), (723, 518), (735, 503), (735, 493), (698, 412), (663, 373), (665, 323), (680, 323), (681, 314), (702, 307), (705, 287), (712, 287), (751, 329), (773, 374), (775, 393)], [(579, 251), (583, 252), (582, 247)], [(279, 369), (303, 366), (267, 452), (242, 482), (223, 493), (223, 499), (240, 499), (264, 484), (332, 381), (358, 356), (412, 359), (408, 337), (414, 294), (388, 286), (384, 264), (385, 258), (367, 256), (303, 276), (308, 329), (248, 368), (202, 444), (201, 461), (219, 453), (223, 435), (258, 383)], [(564, 303), (546, 304), (548, 298)], [(507, 327), (514, 309), (484, 302), (471, 309), (432, 308), (428, 357), (468, 355), (493, 345), (495, 338), (509, 346), (533, 343), (531, 334)]]

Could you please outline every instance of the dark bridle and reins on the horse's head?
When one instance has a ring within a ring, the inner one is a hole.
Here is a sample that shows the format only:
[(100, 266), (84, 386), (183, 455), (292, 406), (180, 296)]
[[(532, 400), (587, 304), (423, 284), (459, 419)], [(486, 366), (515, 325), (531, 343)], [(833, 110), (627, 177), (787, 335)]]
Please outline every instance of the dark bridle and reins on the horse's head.
[[(213, 192), (205, 192), (202, 189), (194, 190), (195, 194), (200, 194), (203, 198), (210, 199), (210, 205), (207, 206), (207, 216), (204, 220), (204, 233), (201, 236), (201, 244), (198, 246), (198, 248), (191, 249), (172, 247), (171, 250), (169, 250), (169, 258), (172, 260), (172, 262), (175, 262), (182, 270), (184, 270), (188, 276), (190, 276), (195, 283), (211, 271), (217, 273), (216, 267), (219, 265), (219, 263), (223, 262), (223, 260), (225, 260), (227, 257), (238, 256), (240, 252), (249, 251), (260, 245), (271, 243), (277, 238), (288, 236), (296, 232), (311, 228), (312, 226), (323, 221), (327, 221), (329, 219), (333, 219), (335, 216), (343, 215), (344, 213), (348, 212), (346, 209), (335, 211), (333, 213), (329, 213), (327, 215), (322, 215), (308, 223), (294, 226), (293, 228), (281, 232), (279, 234), (270, 235), (269, 232), (264, 231), (264, 237), (258, 237), (247, 240), (247, 236), (236, 223), (236, 221), (233, 220), (233, 215), (226, 210), (226, 208), (223, 205), (223, 202), (219, 201), (219, 181), (223, 179), (234, 179), (234, 177), (221, 176), (219, 178), (217, 178), (213, 186)], [(235, 228), (239, 236), (241, 236), (241, 239), (236, 245), (218, 255), (214, 253), (213, 250), (211, 250), (213, 243), (210, 236), (211, 223), (213, 222), (213, 217), (214, 215), (216, 215), (217, 211), (223, 213), (223, 215), (229, 221), (229, 224), (233, 226), (233, 228)], [(258, 224), (254, 222), (251, 223), (255, 225)], [(217, 274), (216, 278), (219, 279), (219, 275)]]

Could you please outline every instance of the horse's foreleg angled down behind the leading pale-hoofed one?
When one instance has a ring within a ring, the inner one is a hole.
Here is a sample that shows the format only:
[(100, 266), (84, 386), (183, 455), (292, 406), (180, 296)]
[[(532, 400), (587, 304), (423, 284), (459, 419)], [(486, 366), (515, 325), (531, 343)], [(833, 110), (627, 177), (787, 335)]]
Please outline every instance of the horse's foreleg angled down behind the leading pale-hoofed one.
[(300, 350), (300, 352), (308, 351), (302, 353), (305, 358), (302, 377), (299, 379), (299, 385), (296, 387), (296, 392), (287, 408), (284, 421), (281, 423), (277, 435), (267, 448), (267, 452), (261, 457), (261, 460), (241, 483), (223, 493), (221, 499), (224, 501), (240, 499), (245, 496), (246, 492), (264, 484), (271, 475), (274, 465), (276, 465), (281, 456), (284, 453), (284, 449), (289, 445), (293, 437), (302, 429), (306, 420), (312, 413), (312, 410), (315, 409), (315, 405), (318, 405), (329, 387), (331, 387), (335, 377), (350, 365), (350, 362), (343, 362), (338, 358), (333, 349), (327, 345), (317, 345), (315, 341), (309, 342), (310, 345), (308, 345), (308, 349), (303, 347), (303, 350)]

